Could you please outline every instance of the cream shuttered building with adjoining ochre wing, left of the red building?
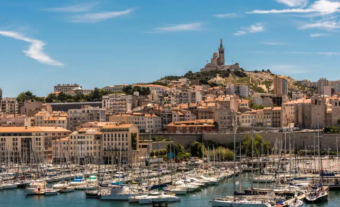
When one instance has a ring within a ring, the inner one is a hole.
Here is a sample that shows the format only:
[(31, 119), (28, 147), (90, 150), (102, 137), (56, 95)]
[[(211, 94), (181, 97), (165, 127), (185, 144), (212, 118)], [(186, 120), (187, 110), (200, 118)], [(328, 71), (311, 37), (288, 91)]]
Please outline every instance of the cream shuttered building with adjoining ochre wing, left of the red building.
[(129, 113), (114, 115), (109, 116), (109, 122), (135, 124), (138, 131), (142, 133), (145, 133), (145, 131), (151, 131), (151, 133), (161, 131), (160, 117), (155, 114)]

